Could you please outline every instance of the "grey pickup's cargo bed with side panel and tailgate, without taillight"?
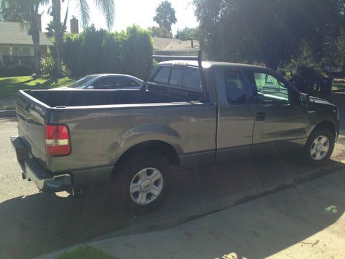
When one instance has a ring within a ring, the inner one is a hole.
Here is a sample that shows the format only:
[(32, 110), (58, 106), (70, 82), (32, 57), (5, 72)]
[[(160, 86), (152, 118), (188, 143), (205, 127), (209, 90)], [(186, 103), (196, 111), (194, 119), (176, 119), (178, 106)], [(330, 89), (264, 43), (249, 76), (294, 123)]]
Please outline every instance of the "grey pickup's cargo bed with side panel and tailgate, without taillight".
[[(21, 90), (18, 135), (53, 173), (113, 166), (131, 146), (170, 143), (178, 155), (215, 150), (215, 105), (144, 90)], [(50, 157), (45, 126), (70, 130), (70, 155)], [(188, 142), (186, 142), (188, 140)]]

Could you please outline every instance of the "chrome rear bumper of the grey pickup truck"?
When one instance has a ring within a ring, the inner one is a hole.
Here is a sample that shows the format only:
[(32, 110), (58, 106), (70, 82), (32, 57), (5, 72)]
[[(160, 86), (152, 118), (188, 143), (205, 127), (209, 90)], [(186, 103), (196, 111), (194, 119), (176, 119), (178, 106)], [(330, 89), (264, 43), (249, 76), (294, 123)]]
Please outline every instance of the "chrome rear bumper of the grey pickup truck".
[(20, 137), (11, 137), (11, 142), (25, 178), (34, 182), (39, 190), (52, 193), (72, 189), (70, 174), (55, 175), (45, 169), (36, 158), (30, 155)]

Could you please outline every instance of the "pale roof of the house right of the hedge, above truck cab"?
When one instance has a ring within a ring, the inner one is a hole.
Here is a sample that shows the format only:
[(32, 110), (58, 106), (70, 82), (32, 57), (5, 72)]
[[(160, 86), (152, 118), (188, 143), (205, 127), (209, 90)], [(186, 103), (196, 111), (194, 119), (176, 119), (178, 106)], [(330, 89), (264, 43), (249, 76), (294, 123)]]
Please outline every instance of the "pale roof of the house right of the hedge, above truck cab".
[(188, 51), (188, 50), (199, 50), (199, 41), (181, 41), (179, 39), (169, 38), (153, 38), (153, 44), (155, 50), (161, 51)]

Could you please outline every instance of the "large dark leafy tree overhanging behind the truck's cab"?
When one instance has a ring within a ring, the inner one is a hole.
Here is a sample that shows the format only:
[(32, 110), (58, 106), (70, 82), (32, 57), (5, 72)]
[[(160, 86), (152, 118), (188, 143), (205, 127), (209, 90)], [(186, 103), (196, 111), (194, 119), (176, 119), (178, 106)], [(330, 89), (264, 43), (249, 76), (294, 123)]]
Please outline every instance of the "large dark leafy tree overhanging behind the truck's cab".
[[(344, 0), (194, 0), (201, 44), (208, 57), (223, 61), (264, 61), (277, 69), (299, 44), (326, 42)], [(337, 37), (337, 36), (336, 36)]]

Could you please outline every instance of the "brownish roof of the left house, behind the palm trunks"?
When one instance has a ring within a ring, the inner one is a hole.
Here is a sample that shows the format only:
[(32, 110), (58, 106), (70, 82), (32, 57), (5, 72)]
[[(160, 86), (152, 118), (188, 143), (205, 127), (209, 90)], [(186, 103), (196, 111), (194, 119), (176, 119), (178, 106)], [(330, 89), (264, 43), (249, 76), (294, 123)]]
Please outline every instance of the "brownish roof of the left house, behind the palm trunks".
[[(39, 34), (39, 45), (52, 45), (50, 39), (42, 32)], [(28, 29), (22, 29), (20, 23), (0, 22), (0, 44), (33, 45), (32, 37), (28, 35)]]

